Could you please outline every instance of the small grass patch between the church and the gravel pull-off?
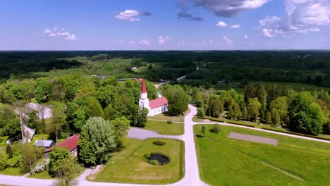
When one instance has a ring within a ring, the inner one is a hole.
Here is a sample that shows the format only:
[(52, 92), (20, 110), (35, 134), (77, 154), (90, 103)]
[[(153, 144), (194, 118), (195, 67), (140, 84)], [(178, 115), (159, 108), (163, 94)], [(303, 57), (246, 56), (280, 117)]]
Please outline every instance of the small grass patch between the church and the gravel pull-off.
[(168, 124), (164, 121), (148, 120), (144, 129), (157, 131), (159, 135), (183, 135), (184, 124)]

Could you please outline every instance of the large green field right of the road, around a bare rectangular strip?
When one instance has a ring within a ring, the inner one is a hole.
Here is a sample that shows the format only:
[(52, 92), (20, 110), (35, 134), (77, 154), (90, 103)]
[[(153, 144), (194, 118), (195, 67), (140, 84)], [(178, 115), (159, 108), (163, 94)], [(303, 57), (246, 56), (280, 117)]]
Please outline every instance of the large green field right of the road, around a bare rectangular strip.
[[(204, 126), (205, 137), (195, 142), (201, 178), (210, 185), (330, 184), (330, 144), (231, 126), (219, 126), (216, 135)], [(201, 128), (195, 125), (195, 133)], [(229, 132), (275, 138), (279, 145), (229, 140)]]

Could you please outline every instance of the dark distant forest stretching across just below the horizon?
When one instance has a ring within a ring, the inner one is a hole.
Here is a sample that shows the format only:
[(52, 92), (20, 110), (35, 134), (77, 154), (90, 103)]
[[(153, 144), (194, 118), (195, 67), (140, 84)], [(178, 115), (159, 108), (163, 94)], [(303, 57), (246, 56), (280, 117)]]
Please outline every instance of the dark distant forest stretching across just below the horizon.
[[(195, 85), (263, 80), (300, 82), (330, 87), (329, 51), (12, 51), (0, 53), (0, 77), (10, 74), (76, 68), (77, 60), (140, 58), (143, 63), (157, 64), (145, 70), (149, 80), (171, 79), (187, 75)], [(197, 70), (198, 69), (198, 70)]]

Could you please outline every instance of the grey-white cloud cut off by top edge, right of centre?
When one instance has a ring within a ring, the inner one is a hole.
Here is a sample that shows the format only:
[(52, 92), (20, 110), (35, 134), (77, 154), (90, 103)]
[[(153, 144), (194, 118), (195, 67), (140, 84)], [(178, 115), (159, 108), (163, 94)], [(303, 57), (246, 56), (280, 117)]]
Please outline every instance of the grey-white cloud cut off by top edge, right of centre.
[(243, 11), (259, 8), (270, 0), (177, 0), (177, 4), (187, 9), (190, 1), (194, 6), (202, 6), (207, 11), (214, 12), (216, 16), (228, 18)]

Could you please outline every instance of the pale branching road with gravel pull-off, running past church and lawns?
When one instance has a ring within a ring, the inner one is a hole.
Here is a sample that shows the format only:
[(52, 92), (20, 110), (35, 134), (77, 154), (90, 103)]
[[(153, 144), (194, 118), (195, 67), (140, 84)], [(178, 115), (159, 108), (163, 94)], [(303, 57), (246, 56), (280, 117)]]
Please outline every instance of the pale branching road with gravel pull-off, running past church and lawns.
[[(185, 142), (185, 177), (171, 185), (168, 186), (204, 186), (206, 185), (202, 180), (200, 180), (198, 164), (197, 164), (197, 156), (195, 149), (195, 141), (194, 141), (194, 133), (193, 133), (193, 125), (195, 124), (219, 124), (219, 125), (230, 125), (238, 128), (247, 128), (250, 130), (259, 130), (262, 132), (270, 132), (278, 135), (286, 135), (290, 137), (297, 137), (304, 140), (313, 140), (318, 142), (326, 142), (330, 143), (330, 141), (326, 140), (318, 140), (311, 137), (302, 137), (298, 135), (290, 135), (282, 132), (275, 132), (270, 130), (262, 130), (259, 128), (248, 128), (240, 125), (233, 125), (229, 123), (195, 123), (192, 118), (197, 113), (197, 109), (195, 106), (189, 105), (190, 113), (185, 116), (185, 134), (184, 135), (158, 135), (157, 132), (150, 130), (143, 130), (140, 128), (130, 128), (128, 131), (128, 136), (137, 138), (140, 140), (145, 140), (150, 137), (161, 137), (161, 138), (171, 138), (171, 139), (179, 139)], [(87, 175), (93, 173), (94, 170), (87, 169), (82, 175), (80, 175), (78, 180), (78, 185), (81, 186), (138, 186), (138, 184), (126, 184), (126, 183), (109, 183), (109, 182), (89, 182), (85, 180)], [(23, 176), (11, 176), (11, 175), (0, 175), (0, 185), (22, 185), (22, 186), (35, 186), (35, 185), (51, 185), (53, 180), (41, 180), (34, 178), (25, 178)], [(142, 185), (141, 185), (142, 186)], [(143, 185), (146, 186), (146, 185)], [(154, 185), (150, 185), (154, 186)]]

